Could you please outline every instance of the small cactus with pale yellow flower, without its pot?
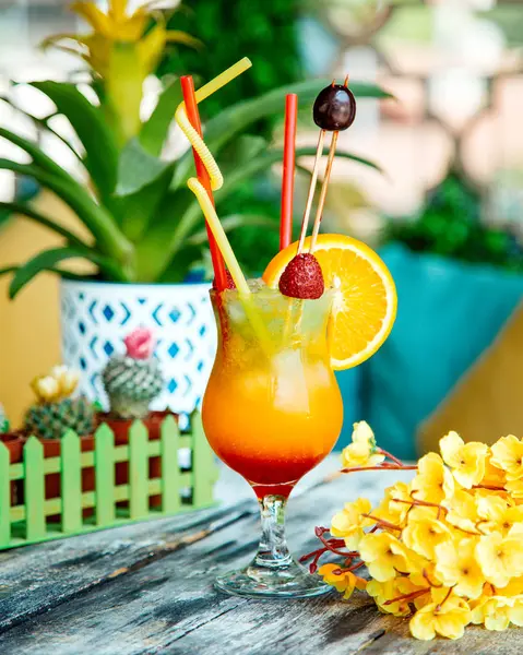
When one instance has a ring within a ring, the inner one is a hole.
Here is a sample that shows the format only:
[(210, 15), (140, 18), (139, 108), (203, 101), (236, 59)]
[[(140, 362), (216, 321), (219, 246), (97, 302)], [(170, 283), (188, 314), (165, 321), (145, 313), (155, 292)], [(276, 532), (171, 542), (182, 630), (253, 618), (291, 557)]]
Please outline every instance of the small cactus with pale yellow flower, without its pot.
[(27, 409), (24, 421), (29, 434), (39, 439), (61, 439), (70, 429), (80, 437), (94, 431), (93, 404), (84, 396), (71, 397), (78, 380), (75, 371), (58, 366), (48, 376), (33, 381), (32, 388), (37, 402)]

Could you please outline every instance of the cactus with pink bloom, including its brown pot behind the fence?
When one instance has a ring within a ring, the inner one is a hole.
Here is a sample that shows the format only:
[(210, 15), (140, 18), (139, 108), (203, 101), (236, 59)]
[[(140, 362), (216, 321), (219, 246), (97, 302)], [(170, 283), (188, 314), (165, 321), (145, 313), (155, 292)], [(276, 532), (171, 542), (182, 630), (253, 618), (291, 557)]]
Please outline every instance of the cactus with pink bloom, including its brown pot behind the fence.
[[(126, 352), (112, 355), (102, 372), (109, 412), (98, 415), (98, 420), (111, 428), (116, 445), (129, 443), (129, 430), (136, 419), (144, 424), (150, 440), (159, 439), (162, 422), (169, 415), (167, 410), (150, 409), (164, 385), (159, 361), (154, 357), (152, 331), (139, 327), (128, 334), (123, 343)], [(148, 478), (159, 478), (161, 475), (161, 458), (150, 457)], [(127, 485), (128, 481), (129, 464), (119, 462), (116, 465), (116, 484)], [(150, 499), (152, 507), (159, 501), (161, 497)]]

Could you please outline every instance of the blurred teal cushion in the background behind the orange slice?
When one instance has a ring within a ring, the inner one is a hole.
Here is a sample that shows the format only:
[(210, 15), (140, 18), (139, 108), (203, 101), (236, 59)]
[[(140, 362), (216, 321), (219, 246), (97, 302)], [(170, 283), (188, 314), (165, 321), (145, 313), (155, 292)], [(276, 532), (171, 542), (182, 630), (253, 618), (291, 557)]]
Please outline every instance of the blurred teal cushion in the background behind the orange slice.
[[(395, 243), (380, 254), (396, 283), (397, 318), (359, 367), (359, 384), (342, 379), (344, 400), (347, 419), (360, 413), (380, 445), (412, 460), (417, 427), (492, 343), (523, 296), (523, 276)], [(348, 429), (345, 421), (341, 443)]]

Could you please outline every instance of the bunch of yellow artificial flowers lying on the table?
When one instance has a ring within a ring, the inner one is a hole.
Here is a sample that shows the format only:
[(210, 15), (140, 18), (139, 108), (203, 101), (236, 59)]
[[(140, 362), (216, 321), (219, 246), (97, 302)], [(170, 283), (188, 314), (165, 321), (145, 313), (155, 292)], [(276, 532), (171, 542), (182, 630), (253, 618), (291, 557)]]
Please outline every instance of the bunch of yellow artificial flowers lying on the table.
[[(523, 626), (523, 441), (489, 448), (450, 432), (439, 445), (404, 466), (355, 424), (344, 473), (415, 468), (415, 477), (389, 487), (376, 508), (362, 498), (345, 504), (330, 528), (316, 528), (322, 548), (301, 560), (344, 598), (365, 588), (381, 611), (412, 617), (417, 639), (457, 639), (468, 623)], [(318, 569), (328, 552), (344, 561)], [(364, 567), (369, 581), (357, 574)]]

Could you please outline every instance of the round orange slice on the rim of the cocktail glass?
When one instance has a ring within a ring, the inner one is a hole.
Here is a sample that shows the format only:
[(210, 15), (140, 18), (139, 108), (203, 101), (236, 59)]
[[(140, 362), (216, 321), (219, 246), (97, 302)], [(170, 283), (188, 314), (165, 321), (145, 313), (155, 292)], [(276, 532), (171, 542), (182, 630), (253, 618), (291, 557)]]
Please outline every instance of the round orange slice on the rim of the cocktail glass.
[[(305, 241), (307, 252), (310, 238)], [(280, 277), (296, 255), (292, 243), (271, 261), (263, 274), (277, 288)], [(325, 288), (338, 293), (330, 329), (331, 365), (352, 368), (373, 355), (389, 336), (396, 317), (396, 288), (389, 270), (368, 246), (344, 235), (319, 235), (314, 255), (320, 262)]]

